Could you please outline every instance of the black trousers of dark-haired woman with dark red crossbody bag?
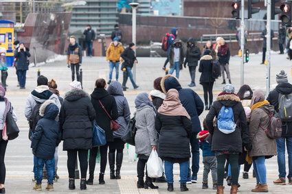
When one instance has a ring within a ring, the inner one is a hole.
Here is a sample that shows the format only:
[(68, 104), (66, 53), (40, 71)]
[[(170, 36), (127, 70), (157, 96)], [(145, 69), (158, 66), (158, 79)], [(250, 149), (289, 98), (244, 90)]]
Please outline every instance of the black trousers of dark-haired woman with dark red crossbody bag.
[(89, 174), (94, 175), (96, 169), (96, 156), (98, 156), (98, 148), (100, 149), (100, 173), (104, 173), (107, 162), (107, 148), (109, 145), (102, 145), (100, 147), (93, 147), (89, 154)]

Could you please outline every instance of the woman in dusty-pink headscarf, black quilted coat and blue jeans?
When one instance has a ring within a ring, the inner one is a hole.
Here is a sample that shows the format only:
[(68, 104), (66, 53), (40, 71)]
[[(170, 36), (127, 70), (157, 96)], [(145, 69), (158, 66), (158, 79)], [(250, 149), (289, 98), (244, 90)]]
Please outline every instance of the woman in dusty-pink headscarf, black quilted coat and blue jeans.
[(173, 164), (179, 163), (181, 191), (188, 191), (188, 167), (190, 161), (190, 136), (192, 121), (179, 101), (176, 89), (168, 90), (164, 103), (159, 107), (155, 119), (159, 133), (158, 156), (164, 160), (168, 191), (173, 191)]

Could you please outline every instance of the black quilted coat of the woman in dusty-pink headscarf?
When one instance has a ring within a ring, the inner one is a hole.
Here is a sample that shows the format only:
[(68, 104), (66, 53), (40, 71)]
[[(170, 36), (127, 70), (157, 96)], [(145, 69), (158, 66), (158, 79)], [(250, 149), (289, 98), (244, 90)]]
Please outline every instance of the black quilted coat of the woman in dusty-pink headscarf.
[(192, 121), (183, 116), (157, 113), (155, 128), (159, 133), (158, 156), (169, 162), (182, 162), (190, 158)]

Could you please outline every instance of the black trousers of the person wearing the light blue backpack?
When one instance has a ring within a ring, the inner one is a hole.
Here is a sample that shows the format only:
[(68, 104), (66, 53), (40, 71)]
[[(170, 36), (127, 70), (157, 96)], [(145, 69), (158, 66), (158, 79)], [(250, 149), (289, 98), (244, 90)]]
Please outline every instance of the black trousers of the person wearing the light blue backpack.
[(238, 154), (222, 154), (217, 158), (217, 182), (218, 185), (223, 185), (225, 173), (225, 161), (228, 160), (231, 165), (232, 184), (238, 185)]

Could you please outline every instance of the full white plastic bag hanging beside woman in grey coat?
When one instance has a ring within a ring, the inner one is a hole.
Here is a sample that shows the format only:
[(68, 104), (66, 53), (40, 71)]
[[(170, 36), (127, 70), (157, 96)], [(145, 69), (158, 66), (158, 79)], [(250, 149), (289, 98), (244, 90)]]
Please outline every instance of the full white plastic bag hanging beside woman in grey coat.
[(147, 162), (147, 173), (148, 177), (159, 178), (164, 172), (164, 163), (161, 158), (158, 157), (158, 154), (155, 149), (151, 151)]

